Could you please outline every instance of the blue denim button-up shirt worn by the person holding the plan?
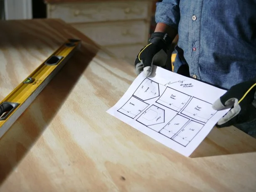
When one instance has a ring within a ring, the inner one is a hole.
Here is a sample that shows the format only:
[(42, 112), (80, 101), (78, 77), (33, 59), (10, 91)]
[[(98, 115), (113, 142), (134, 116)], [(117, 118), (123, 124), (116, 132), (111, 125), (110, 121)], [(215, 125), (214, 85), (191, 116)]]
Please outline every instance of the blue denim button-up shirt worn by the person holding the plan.
[(162, 0), (155, 21), (178, 30), (174, 72), (223, 89), (256, 76), (256, 0)]

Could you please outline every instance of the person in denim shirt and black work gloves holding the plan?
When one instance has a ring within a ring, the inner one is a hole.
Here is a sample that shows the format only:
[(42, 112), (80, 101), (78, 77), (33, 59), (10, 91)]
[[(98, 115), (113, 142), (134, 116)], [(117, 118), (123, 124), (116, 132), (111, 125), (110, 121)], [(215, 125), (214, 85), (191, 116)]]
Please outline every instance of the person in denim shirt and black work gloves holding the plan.
[(137, 74), (163, 65), (162, 52), (178, 33), (174, 72), (227, 89), (213, 108), (232, 109), (217, 126), (256, 135), (256, 0), (162, 0), (155, 21), (135, 60)]

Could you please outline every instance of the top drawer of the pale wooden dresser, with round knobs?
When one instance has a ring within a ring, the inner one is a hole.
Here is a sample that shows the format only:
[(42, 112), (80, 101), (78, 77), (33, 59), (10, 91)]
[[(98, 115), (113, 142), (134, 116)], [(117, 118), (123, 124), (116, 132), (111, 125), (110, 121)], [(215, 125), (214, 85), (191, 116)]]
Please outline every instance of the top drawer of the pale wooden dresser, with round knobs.
[(151, 7), (151, 0), (48, 4), (47, 17), (68, 23), (149, 19)]

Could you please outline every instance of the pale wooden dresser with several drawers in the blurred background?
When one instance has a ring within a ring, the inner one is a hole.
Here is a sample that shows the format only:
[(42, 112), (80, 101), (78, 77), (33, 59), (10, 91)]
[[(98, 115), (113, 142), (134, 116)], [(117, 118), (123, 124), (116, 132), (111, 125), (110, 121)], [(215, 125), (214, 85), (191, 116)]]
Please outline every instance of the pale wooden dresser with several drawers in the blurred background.
[(134, 63), (150, 33), (155, 0), (45, 0), (47, 18), (59, 18)]

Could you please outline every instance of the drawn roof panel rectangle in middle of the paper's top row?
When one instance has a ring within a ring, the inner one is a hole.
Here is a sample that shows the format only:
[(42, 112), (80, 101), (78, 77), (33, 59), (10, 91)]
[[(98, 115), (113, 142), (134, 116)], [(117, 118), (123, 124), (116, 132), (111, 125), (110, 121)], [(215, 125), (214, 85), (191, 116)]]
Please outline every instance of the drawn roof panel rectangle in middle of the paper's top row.
[(181, 109), (187, 104), (191, 96), (176, 91), (170, 87), (165, 89), (165, 92), (158, 98), (156, 103), (166, 106), (174, 111), (180, 112)]

